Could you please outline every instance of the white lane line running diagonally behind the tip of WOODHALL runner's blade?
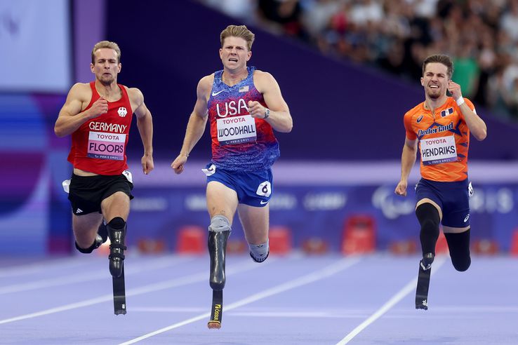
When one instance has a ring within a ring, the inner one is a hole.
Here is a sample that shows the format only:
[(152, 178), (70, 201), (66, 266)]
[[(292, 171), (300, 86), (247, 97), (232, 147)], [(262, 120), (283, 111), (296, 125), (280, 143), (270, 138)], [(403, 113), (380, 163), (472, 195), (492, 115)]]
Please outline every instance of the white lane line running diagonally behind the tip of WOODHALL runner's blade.
[[(302, 276), (300, 278), (296, 278), (293, 280), (289, 280), (286, 283), (282, 283), (280, 285), (274, 286), (273, 288), (264, 290), (262, 292), (258, 292), (254, 295), (250, 295), (244, 299), (239, 299), (239, 301), (234, 302), (232, 304), (229, 304), (228, 306), (224, 306), (224, 311), (230, 311), (232, 309), (239, 308), (240, 306), (244, 306), (246, 304), (251, 304), (252, 302), (256, 302), (260, 299), (270, 297), (272, 295), (277, 295), (281, 292), (285, 292), (288, 290), (292, 290), (294, 288), (298, 288), (303, 285), (307, 285), (310, 283), (314, 283), (317, 280), (321, 280), (324, 278), (328, 278), (329, 276), (333, 276), (334, 274), (343, 271), (344, 269), (348, 269), (350, 266), (353, 266), (354, 264), (357, 264), (360, 261), (359, 257), (349, 257), (345, 259), (340, 259), (339, 262), (336, 262), (334, 264), (328, 265), (324, 267), (324, 269), (319, 269), (318, 271), (314, 271), (310, 274), (307, 274), (305, 276)], [(124, 343), (121, 343), (120, 345), (128, 345), (128, 344), (135, 344), (138, 341), (145, 340), (150, 337), (154, 337), (157, 334), (161, 334), (164, 332), (168, 332), (170, 330), (174, 330), (175, 328), (182, 327), (184, 325), (188, 325), (190, 323), (194, 323), (199, 320), (203, 320), (204, 318), (208, 318), (211, 316), (211, 313), (203, 313), (199, 316), (194, 316), (193, 318), (188, 318), (187, 320), (180, 321), (179, 323), (175, 323), (173, 325), (169, 325), (167, 327), (163, 327), (159, 330), (156, 330), (154, 332), (150, 332), (147, 334), (144, 334), (140, 337), (137, 337), (135, 339), (131, 339), (128, 341), (125, 341)]]

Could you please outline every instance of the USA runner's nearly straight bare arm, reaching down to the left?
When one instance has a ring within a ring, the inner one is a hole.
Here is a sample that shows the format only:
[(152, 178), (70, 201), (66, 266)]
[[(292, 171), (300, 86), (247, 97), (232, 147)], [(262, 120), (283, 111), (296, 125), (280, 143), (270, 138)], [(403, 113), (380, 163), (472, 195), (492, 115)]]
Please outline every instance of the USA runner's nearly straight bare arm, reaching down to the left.
[(204, 76), (198, 83), (196, 89), (197, 100), (196, 104), (194, 104), (194, 110), (191, 113), (189, 122), (187, 123), (182, 149), (178, 157), (171, 163), (171, 168), (173, 168), (177, 174), (183, 172), (183, 165), (187, 162), (187, 157), (194, 148), (194, 145), (200, 140), (201, 135), (204, 135), (208, 115), (208, 93), (212, 88), (212, 81), (212, 76)]

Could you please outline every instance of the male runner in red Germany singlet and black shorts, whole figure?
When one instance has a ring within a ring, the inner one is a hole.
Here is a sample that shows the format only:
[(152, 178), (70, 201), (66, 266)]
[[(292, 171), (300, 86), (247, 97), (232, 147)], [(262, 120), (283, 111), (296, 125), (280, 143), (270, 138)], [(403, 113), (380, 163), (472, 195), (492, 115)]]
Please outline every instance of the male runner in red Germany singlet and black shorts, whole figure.
[(133, 198), (131, 173), (126, 170), (126, 144), (135, 114), (144, 146), (142, 172), (150, 173), (154, 167), (153, 123), (140, 90), (117, 84), (121, 72), (117, 43), (100, 41), (91, 55), (95, 81), (72, 86), (54, 131), (58, 137), (72, 136), (68, 161), (74, 171), (63, 187), (72, 205), (76, 248), (91, 253), (109, 236), (114, 309), (116, 314), (125, 314), (124, 238)]

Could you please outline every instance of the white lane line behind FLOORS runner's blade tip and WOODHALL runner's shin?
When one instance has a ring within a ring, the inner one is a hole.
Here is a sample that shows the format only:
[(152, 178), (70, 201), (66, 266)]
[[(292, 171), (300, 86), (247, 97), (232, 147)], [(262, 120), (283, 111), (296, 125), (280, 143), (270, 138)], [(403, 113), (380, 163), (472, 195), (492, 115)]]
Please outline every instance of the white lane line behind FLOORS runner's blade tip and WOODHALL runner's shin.
[[(269, 259), (269, 261), (270, 261), (270, 259)], [(275, 261), (276, 261), (276, 259), (272, 258), (272, 261), (266, 262), (265, 264), (270, 264)], [(261, 266), (264, 267), (265, 264), (258, 265), (255, 262), (251, 262), (250, 259), (246, 259), (246, 262), (243, 262), (242, 264), (238, 264), (237, 266), (234, 266), (233, 269), (227, 269), (227, 273), (229, 275), (232, 275), (235, 273), (239, 273), (241, 271), (250, 271), (252, 269), (257, 269)], [(185, 276), (182, 278), (165, 280), (164, 282), (161, 282), (161, 283), (145, 285), (140, 288), (131, 289), (131, 290), (126, 291), (126, 297), (142, 295), (142, 294), (145, 294), (148, 292), (156, 292), (156, 291), (165, 290), (168, 288), (175, 288), (175, 287), (178, 287), (181, 285), (198, 283), (198, 282), (205, 281), (205, 280), (208, 280), (207, 271), (204, 271), (203, 273), (201, 273), (201, 272), (195, 273), (190, 276)], [(78, 309), (78, 308), (82, 308), (84, 306), (91, 306), (93, 304), (108, 302), (108, 301), (111, 301), (112, 299), (113, 299), (113, 295), (102, 295), (100, 297), (86, 299), (84, 301), (80, 301), (80, 302), (76, 302), (76, 303), (72, 303), (72, 304), (65, 304), (63, 306), (57, 306), (55, 308), (45, 309), (43, 311), (36, 311), (35, 313), (29, 313), (29, 314), (25, 314), (25, 315), (15, 316), (13, 318), (6, 318), (4, 320), (0, 320), (0, 325), (3, 325), (4, 323), (12, 323), (12, 322), (19, 321), (19, 320), (26, 320), (28, 318), (37, 318), (39, 316), (46, 316), (48, 314), (59, 313), (61, 311)]]

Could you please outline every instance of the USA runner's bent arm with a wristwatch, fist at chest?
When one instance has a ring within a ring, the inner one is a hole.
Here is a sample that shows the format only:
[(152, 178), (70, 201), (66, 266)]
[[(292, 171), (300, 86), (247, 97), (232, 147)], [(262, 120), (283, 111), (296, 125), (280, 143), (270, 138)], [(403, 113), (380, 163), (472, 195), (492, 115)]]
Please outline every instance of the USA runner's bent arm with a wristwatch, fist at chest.
[(289, 133), (293, 128), (290, 109), (281, 95), (281, 88), (272, 74), (267, 72), (255, 71), (253, 82), (258, 91), (263, 94), (265, 103), (270, 114), (265, 119), (265, 107), (259, 102), (248, 102), (248, 112), (251, 116), (258, 119), (265, 119), (267, 123), (279, 132)]

